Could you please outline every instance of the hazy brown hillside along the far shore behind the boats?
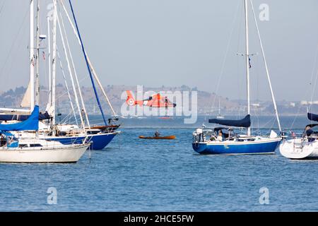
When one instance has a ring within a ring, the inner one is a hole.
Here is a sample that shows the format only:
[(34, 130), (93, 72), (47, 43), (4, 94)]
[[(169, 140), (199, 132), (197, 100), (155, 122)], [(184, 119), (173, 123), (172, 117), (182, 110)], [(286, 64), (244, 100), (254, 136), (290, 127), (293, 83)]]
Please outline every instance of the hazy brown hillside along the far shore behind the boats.
[[(121, 99), (122, 93), (126, 90), (132, 90), (134, 95), (136, 95), (136, 85), (107, 85), (105, 91), (110, 98), (110, 102), (115, 109), (115, 111), (120, 114), (120, 108), (125, 100)], [(19, 107), (20, 102), (25, 93), (25, 87), (18, 87), (10, 90), (0, 91), (0, 107)], [(143, 92), (152, 90), (154, 92), (159, 91), (197, 91), (198, 94), (198, 114), (218, 114), (218, 102), (220, 101), (220, 112), (227, 115), (237, 115), (245, 114), (246, 112), (246, 100), (228, 100), (226, 97), (220, 97), (214, 93), (208, 93), (205, 91), (197, 90), (196, 88), (189, 88), (187, 85), (182, 85), (180, 87), (166, 87), (161, 86), (158, 88), (143, 87)], [(89, 114), (98, 114), (98, 105), (95, 100), (95, 95), (92, 88), (81, 87), (83, 94), (83, 99), (86, 104), (86, 108)], [(102, 102), (102, 107), (106, 114), (111, 114), (107, 102), (103, 97), (102, 93), (98, 92), (100, 95), (100, 100)], [(73, 104), (75, 104), (75, 98), (71, 92), (71, 97)], [(125, 97), (125, 96), (124, 96)], [(48, 100), (48, 88), (40, 88), (40, 106), (42, 110), (45, 109)], [(214, 107), (212, 106), (214, 102)], [(57, 109), (58, 112), (66, 114), (69, 112), (70, 104), (69, 97), (66, 92), (64, 85), (57, 85)], [(318, 105), (313, 105), (312, 109), (317, 109)], [(252, 111), (257, 112), (258, 115), (270, 115), (273, 114), (273, 106), (271, 102), (268, 101), (254, 101), (252, 102)], [(293, 114), (305, 114), (307, 112), (307, 107), (301, 105), (300, 102), (278, 102), (278, 111), (280, 114), (293, 115)], [(254, 113), (253, 113), (254, 114)]]

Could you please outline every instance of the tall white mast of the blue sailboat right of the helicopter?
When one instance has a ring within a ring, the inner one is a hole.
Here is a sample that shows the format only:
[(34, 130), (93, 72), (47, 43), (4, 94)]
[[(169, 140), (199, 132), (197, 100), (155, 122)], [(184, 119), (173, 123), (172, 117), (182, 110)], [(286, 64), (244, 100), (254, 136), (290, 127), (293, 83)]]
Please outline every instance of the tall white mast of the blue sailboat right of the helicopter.
[[(245, 0), (245, 38), (246, 38), (246, 76), (247, 76), (247, 114), (251, 114), (250, 93), (249, 93), (249, 23), (247, 12), (247, 0)], [(247, 135), (251, 135), (251, 127), (247, 128)]]

